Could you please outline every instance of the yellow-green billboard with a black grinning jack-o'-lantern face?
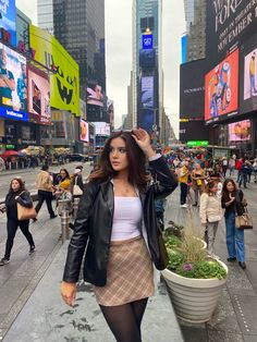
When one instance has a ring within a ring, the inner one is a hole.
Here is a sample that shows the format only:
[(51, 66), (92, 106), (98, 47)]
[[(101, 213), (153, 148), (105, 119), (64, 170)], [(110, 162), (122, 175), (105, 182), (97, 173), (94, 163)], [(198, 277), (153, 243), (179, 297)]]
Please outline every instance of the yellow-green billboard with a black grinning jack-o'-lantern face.
[(63, 46), (46, 30), (29, 25), (34, 60), (54, 72), (50, 75), (50, 105), (79, 117), (79, 69)]

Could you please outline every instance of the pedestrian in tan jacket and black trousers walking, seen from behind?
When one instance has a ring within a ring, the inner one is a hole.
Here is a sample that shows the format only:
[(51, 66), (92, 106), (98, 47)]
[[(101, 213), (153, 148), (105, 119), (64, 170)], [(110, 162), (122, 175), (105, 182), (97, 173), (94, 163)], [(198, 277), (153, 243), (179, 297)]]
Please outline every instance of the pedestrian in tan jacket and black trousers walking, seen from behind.
[[(49, 167), (42, 166), (41, 171), (38, 173), (36, 179), (36, 186), (38, 188), (37, 196), (38, 203), (35, 207), (35, 210), (39, 212), (44, 201), (47, 203), (47, 209), (50, 215), (50, 219), (54, 219), (57, 215), (52, 209), (52, 179), (50, 173), (48, 172)], [(34, 219), (35, 221), (36, 219)]]

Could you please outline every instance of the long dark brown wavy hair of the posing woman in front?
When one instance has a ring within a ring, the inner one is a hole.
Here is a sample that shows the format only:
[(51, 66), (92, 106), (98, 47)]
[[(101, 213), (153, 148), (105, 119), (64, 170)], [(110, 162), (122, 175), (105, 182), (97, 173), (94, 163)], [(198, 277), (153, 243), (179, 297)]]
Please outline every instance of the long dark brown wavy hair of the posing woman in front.
[(107, 181), (108, 179), (113, 178), (119, 173), (112, 169), (110, 163), (110, 145), (111, 142), (118, 137), (125, 142), (128, 159), (128, 182), (142, 190), (146, 186), (147, 180), (149, 179), (145, 169), (146, 157), (143, 150), (136, 144), (131, 132), (117, 132), (107, 141), (101, 152), (99, 170), (93, 172), (88, 176), (88, 180)]

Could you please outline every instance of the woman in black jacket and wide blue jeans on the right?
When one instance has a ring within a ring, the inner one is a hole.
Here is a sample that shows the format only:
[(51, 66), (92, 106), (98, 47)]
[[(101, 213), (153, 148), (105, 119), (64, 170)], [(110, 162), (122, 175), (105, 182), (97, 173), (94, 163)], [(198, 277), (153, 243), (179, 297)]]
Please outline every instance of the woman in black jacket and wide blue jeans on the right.
[(242, 269), (245, 265), (244, 230), (235, 227), (235, 216), (244, 213), (246, 200), (241, 190), (236, 188), (232, 179), (227, 179), (222, 188), (221, 206), (225, 209), (227, 248), (229, 253), (228, 261), (237, 259)]

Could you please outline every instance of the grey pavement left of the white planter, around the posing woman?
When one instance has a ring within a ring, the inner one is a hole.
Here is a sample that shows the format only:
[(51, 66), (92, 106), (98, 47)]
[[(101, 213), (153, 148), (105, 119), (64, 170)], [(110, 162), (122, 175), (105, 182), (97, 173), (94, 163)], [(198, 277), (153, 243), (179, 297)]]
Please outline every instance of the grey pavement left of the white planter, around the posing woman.
[[(42, 218), (40, 212), (40, 224), (38, 223), (39, 227), (32, 230), (37, 244), (35, 255), (28, 257), (26, 252), (21, 251), (24, 249), (23, 245), (26, 245), (22, 236), (23, 244), (17, 245), (17, 241), (15, 241), (16, 248), (13, 252), (12, 261), (4, 269), (0, 268), (0, 279), (2, 272), (5, 273), (5, 283), (3, 280), (0, 282), (1, 335), (8, 331), (3, 341), (114, 342), (89, 284), (79, 283), (74, 308), (70, 308), (62, 302), (60, 283), (68, 243), (60, 246), (57, 241), (60, 233), (59, 218), (52, 221), (45, 220), (45, 218), (48, 218), (48, 215), (45, 213)], [(48, 234), (42, 233), (41, 230), (47, 230)], [(41, 239), (39, 243), (38, 234), (45, 234), (47, 241)], [(56, 247), (53, 247), (54, 244)], [(57, 249), (58, 252), (56, 252)], [(13, 271), (13, 268), (16, 269)], [(7, 279), (7, 274), (11, 276), (10, 279)], [(143, 319), (143, 341), (182, 342), (180, 326), (169, 295), (164, 284), (160, 283), (159, 279), (159, 272), (157, 272), (156, 294), (149, 300)], [(24, 284), (24, 282), (26, 283)], [(16, 295), (14, 295), (14, 290), (11, 286), (13, 283), (17, 283), (15, 285)], [(14, 320), (13, 323), (12, 320)]]

